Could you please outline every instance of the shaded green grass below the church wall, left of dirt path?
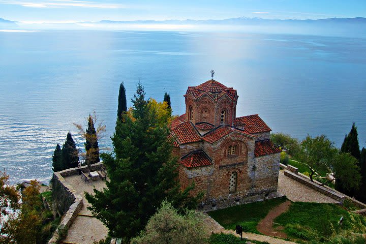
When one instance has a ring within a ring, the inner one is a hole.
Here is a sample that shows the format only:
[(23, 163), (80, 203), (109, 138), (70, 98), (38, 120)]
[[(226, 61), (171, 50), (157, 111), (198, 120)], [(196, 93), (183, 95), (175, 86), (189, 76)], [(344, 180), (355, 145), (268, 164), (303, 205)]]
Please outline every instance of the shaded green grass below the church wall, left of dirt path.
[(241, 225), (244, 232), (260, 234), (256, 228), (257, 224), (268, 214), (271, 208), (284, 201), (286, 201), (286, 197), (280, 197), (210, 211), (207, 214), (225, 229), (235, 230), (236, 225)]

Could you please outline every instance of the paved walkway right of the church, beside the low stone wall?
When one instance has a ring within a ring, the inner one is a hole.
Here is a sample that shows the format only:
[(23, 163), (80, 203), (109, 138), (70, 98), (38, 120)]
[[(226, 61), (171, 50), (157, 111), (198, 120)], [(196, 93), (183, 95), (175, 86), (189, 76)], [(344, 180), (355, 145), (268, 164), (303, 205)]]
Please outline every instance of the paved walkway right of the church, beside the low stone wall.
[(284, 175), (280, 170), (278, 191), (293, 202), (338, 203), (337, 200), (321, 194), (310, 187)]

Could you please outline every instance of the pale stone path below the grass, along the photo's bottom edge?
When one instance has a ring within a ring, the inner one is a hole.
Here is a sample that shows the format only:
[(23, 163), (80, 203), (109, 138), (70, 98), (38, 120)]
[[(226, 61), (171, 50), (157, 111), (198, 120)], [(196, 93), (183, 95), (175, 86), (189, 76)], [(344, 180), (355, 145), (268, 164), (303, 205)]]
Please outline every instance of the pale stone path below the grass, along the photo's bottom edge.
[[(206, 215), (206, 214), (205, 214)], [(225, 234), (233, 234), (238, 236), (233, 230), (226, 230), (222, 227), (218, 222), (212, 219), (210, 216), (206, 215), (206, 223), (211, 229), (211, 233), (225, 233)], [(254, 233), (243, 232), (243, 238), (247, 238), (248, 240), (257, 240), (257, 241), (267, 241), (270, 244), (296, 244), (296, 242), (278, 239), (275, 237), (270, 237), (266, 235), (259, 235)]]

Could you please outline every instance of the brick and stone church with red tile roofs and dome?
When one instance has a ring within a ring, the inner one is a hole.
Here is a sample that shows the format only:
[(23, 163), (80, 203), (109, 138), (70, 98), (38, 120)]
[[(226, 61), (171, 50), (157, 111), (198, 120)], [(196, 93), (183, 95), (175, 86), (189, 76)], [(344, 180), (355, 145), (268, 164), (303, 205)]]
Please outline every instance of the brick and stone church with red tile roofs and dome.
[(236, 117), (236, 90), (212, 78), (184, 97), (170, 130), (182, 189), (194, 182), (204, 208), (277, 196), (281, 150), (258, 114)]

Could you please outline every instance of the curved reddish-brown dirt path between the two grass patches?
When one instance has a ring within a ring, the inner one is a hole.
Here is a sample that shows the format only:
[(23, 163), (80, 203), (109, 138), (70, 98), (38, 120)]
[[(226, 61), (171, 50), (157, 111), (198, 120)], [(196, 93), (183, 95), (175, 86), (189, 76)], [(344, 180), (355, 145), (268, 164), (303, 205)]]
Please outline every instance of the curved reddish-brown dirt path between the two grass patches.
[(287, 238), (286, 233), (282, 232), (283, 230), (282, 226), (273, 228), (273, 220), (275, 220), (278, 216), (286, 212), (290, 208), (290, 205), (291, 202), (287, 200), (286, 202), (281, 203), (277, 207), (272, 208), (268, 212), (267, 216), (258, 223), (257, 230), (264, 235), (276, 236), (283, 239)]

